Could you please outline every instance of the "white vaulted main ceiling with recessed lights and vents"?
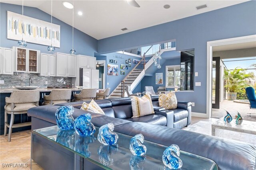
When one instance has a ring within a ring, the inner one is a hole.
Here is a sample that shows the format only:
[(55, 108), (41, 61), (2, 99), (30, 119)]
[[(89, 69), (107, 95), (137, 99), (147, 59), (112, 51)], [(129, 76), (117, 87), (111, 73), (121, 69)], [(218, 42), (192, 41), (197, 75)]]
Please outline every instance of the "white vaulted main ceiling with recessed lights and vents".
[[(72, 25), (72, 9), (65, 8), (63, 1), (53, 0), (53, 16)], [(74, 27), (96, 39), (103, 39), (246, 1), (248, 0), (136, 0), (140, 5), (140, 8), (136, 8), (128, 5), (126, 0), (74, 0)], [(22, 4), (22, 0), (1, 2)], [(169, 4), (170, 8), (164, 9), (165, 4)], [(208, 7), (196, 9), (196, 6), (204, 4)], [(36, 7), (48, 14), (51, 13), (50, 5), (50, 0), (24, 0), (24, 6)], [(82, 11), (83, 15), (78, 16), (78, 11)], [(122, 31), (124, 27), (128, 30)]]

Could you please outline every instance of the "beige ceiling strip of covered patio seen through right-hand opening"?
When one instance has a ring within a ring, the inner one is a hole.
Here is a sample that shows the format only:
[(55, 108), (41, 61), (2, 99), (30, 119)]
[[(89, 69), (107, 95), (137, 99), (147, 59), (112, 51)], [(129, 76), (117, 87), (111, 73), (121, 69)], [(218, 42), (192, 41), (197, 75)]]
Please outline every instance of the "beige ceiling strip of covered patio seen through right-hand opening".
[(215, 46), (213, 47), (212, 51), (249, 49), (249, 48), (255, 48), (255, 47), (256, 47), (256, 41), (252, 41), (247, 43), (236, 43), (236, 44)]

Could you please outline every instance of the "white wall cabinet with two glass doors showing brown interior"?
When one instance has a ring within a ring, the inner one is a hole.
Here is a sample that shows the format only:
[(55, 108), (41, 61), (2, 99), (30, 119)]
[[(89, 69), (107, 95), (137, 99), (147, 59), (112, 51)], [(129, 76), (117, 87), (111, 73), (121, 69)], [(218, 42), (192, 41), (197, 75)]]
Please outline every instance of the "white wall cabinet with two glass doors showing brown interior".
[(16, 72), (38, 73), (38, 56), (40, 51), (15, 47)]

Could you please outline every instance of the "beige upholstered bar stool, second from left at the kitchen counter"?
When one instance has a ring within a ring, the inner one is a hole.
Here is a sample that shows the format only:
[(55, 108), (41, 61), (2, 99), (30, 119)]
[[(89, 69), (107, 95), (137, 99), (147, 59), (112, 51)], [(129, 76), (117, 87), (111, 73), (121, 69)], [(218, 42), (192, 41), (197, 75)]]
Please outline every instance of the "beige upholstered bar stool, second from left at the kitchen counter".
[(60, 103), (68, 103), (71, 99), (72, 90), (52, 90), (49, 95), (44, 95), (42, 105), (56, 105)]

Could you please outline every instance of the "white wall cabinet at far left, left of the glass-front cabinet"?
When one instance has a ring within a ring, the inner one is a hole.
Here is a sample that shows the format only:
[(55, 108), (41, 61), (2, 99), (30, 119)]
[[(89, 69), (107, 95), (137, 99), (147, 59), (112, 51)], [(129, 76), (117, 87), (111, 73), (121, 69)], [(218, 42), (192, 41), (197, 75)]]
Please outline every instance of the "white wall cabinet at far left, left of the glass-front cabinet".
[(0, 74), (13, 74), (13, 49), (0, 47)]

